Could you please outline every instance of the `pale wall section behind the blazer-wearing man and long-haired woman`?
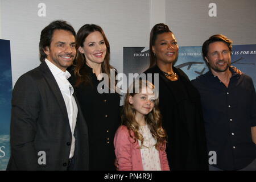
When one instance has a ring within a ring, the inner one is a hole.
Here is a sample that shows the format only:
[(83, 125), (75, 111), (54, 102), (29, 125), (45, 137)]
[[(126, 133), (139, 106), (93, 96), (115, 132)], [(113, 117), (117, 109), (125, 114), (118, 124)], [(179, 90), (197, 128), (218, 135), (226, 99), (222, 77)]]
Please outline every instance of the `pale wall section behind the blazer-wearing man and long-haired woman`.
[[(38, 16), (40, 2), (46, 4), (46, 17)], [(149, 14), (148, 0), (2, 0), (2, 38), (11, 40), (13, 85), (40, 64), (40, 31), (52, 20), (67, 20), (76, 31), (86, 23), (100, 25), (110, 42), (110, 63), (122, 72), (123, 47), (147, 46)]]

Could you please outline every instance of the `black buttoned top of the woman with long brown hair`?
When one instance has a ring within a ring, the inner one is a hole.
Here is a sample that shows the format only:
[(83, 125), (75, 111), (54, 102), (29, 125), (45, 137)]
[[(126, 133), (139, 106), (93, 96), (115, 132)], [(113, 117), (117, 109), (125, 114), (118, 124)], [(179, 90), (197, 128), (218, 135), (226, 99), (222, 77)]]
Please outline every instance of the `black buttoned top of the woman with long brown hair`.
[[(114, 134), (120, 125), (119, 94), (98, 93), (97, 80), (92, 68), (85, 65), (86, 72), (92, 79), (92, 84), (80, 84), (75, 87), (75, 93), (89, 134), (89, 170), (115, 170)], [(71, 84), (75, 84), (75, 77), (71, 77)]]

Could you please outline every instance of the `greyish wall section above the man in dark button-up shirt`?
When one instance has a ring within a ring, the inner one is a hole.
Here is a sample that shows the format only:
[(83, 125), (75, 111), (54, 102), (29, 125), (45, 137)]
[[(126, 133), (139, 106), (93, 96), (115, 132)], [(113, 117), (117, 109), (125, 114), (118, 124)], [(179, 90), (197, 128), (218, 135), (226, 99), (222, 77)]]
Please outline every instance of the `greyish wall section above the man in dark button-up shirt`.
[[(217, 16), (210, 17), (210, 3)], [(180, 46), (202, 46), (211, 35), (224, 34), (234, 44), (256, 44), (255, 0), (166, 0), (166, 23)]]

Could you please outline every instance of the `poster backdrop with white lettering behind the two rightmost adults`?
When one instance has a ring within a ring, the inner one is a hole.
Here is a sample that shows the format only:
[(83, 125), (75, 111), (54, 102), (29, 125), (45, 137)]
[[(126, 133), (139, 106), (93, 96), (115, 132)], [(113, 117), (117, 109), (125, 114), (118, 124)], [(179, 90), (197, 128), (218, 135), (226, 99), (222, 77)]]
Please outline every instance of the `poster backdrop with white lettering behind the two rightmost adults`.
[[(181, 68), (190, 80), (208, 72), (201, 55), (201, 46), (183, 46), (179, 49), (179, 58), (175, 64)], [(123, 73), (142, 73), (149, 67), (148, 47), (123, 48)], [(232, 65), (253, 78), (256, 88), (256, 44), (233, 46)]]

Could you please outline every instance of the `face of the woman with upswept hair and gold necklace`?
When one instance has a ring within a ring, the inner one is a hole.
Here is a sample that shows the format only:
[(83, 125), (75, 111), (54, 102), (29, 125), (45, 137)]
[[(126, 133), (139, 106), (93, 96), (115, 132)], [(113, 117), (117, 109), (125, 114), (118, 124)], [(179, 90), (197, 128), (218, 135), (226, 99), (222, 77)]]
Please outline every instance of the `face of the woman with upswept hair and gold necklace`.
[(152, 51), (156, 56), (157, 64), (172, 64), (177, 59), (179, 46), (172, 32), (159, 34), (152, 46)]

